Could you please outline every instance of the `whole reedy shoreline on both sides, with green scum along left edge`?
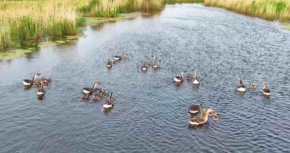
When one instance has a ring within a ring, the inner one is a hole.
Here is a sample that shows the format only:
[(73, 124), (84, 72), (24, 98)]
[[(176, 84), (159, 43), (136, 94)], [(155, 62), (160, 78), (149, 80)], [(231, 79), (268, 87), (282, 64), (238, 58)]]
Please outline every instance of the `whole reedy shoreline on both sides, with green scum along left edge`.
[[(132, 12), (162, 10), (166, 4), (203, 2), (203, 0), (1, 1), (0, 59), (19, 58), (20, 55), (25, 55), (19, 49), (28, 40), (40, 41), (37, 44), (43, 43), (43, 40), (45, 44), (58, 44), (58, 42), (67, 42), (63, 40), (63, 36), (80, 34), (80, 27), (86, 24), (133, 19), (138, 16), (138, 13), (132, 14)], [(285, 0), (205, 0), (204, 4), (265, 19), (290, 19), (290, 3)], [(289, 24), (283, 24), (285, 25), (289, 27)], [(289, 29), (287, 27), (285, 30)], [(61, 39), (58, 42), (47, 43), (47, 37), (61, 37)], [(15, 49), (17, 51), (14, 51)], [(30, 50), (23, 52), (30, 52)]]

